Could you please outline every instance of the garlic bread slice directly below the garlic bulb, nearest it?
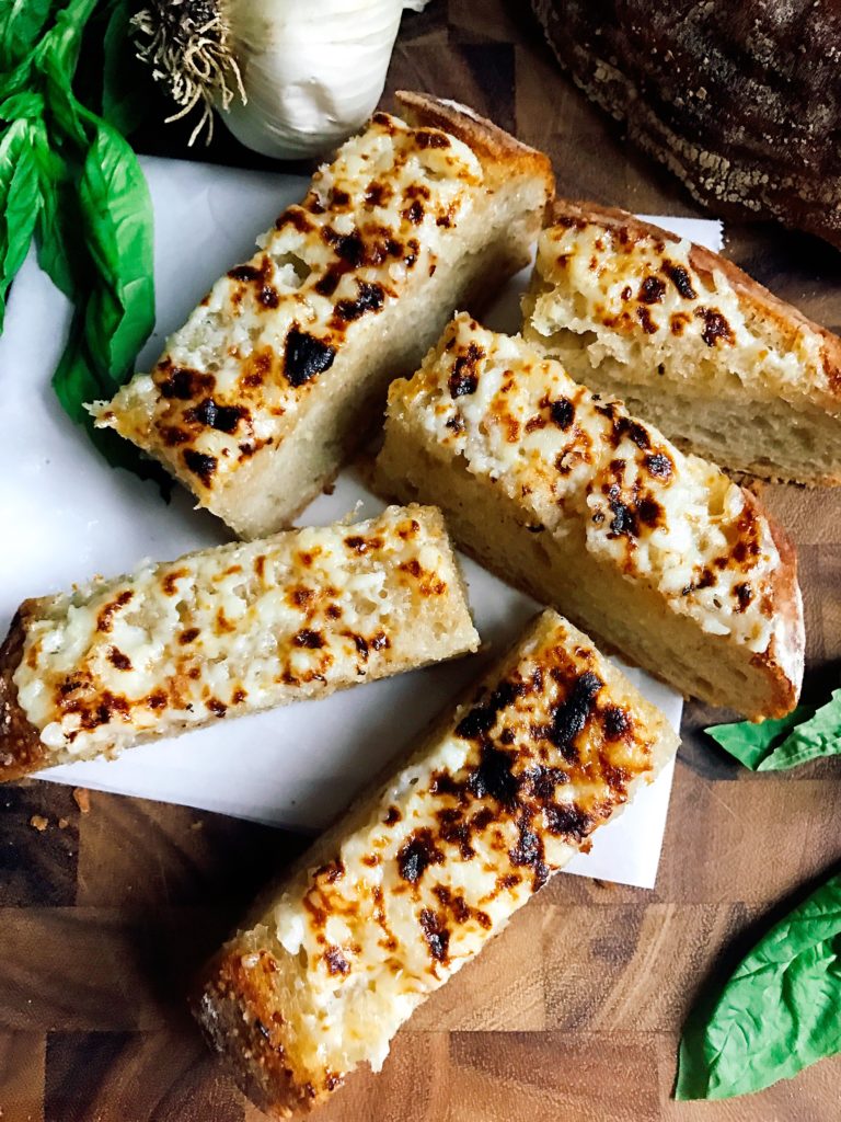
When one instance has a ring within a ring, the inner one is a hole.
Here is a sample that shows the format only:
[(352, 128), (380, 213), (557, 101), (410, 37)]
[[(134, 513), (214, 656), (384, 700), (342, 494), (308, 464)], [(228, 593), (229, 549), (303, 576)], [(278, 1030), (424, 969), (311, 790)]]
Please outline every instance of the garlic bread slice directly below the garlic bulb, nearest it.
[(286, 526), (360, 444), (453, 309), (528, 264), (545, 156), (451, 102), (398, 94), (150, 374), (93, 406), (241, 537)]

